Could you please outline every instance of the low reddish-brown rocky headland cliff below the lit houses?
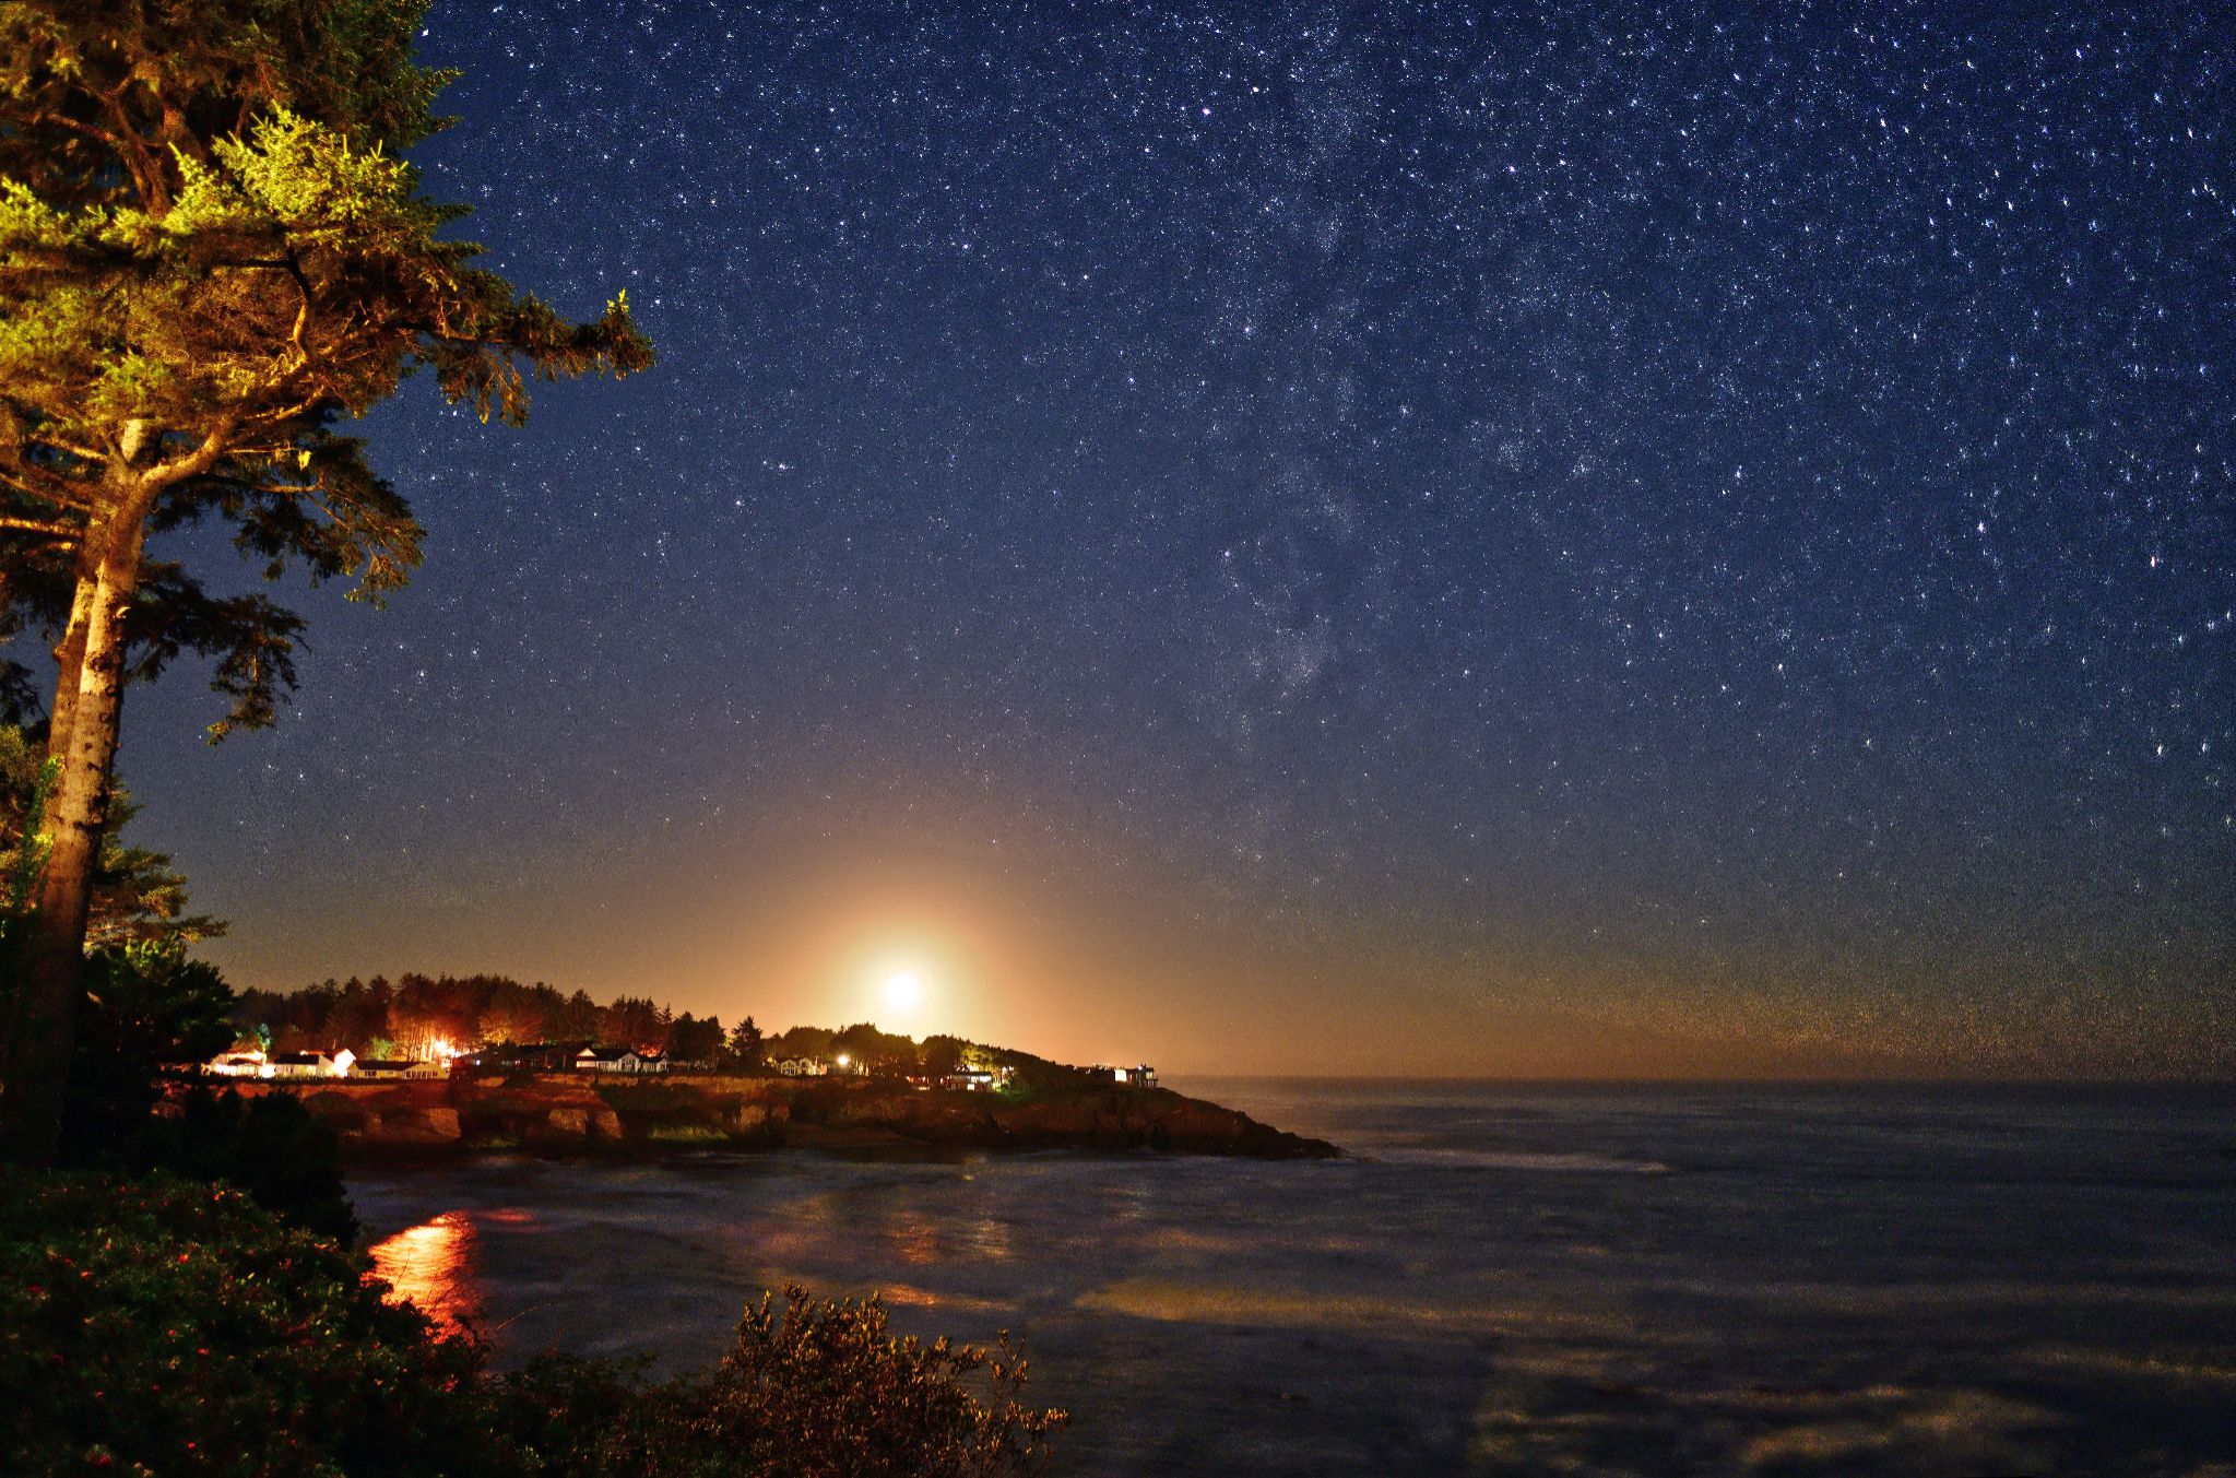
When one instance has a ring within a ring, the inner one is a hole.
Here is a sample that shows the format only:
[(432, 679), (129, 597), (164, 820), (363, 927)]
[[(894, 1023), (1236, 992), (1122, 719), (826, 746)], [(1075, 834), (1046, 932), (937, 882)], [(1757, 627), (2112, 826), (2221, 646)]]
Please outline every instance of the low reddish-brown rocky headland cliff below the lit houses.
[(1310, 1160), (1342, 1154), (1169, 1089), (919, 1091), (870, 1078), (653, 1080), (537, 1073), (445, 1082), (244, 1084), (293, 1093), (349, 1160), (673, 1149), (1152, 1149)]

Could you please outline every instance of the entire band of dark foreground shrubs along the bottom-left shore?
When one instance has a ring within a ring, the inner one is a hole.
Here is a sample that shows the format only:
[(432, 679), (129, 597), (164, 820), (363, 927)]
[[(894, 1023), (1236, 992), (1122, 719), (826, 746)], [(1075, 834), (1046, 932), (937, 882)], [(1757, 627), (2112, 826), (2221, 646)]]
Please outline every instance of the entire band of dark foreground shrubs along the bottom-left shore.
[(749, 1308), (709, 1375), (496, 1377), (338, 1243), (233, 1190), (0, 1172), (0, 1471), (1020, 1474), (1024, 1362), (897, 1339), (874, 1299)]

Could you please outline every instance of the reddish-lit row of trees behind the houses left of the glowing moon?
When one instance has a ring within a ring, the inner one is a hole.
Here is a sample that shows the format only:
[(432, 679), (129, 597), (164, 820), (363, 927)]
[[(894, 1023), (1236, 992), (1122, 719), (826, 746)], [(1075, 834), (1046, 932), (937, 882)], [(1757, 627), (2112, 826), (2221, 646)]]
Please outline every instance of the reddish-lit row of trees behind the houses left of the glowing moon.
[[(268, 1038), (273, 1051), (347, 1046), (360, 1058), (429, 1058), (443, 1044), (610, 1042), (711, 1062), (740, 1035), (644, 997), (597, 1002), (588, 991), (523, 986), (505, 975), (353, 975), (291, 993), (241, 991), (233, 1022), (244, 1042)], [(749, 1038), (758, 1046), (758, 1033)]]

